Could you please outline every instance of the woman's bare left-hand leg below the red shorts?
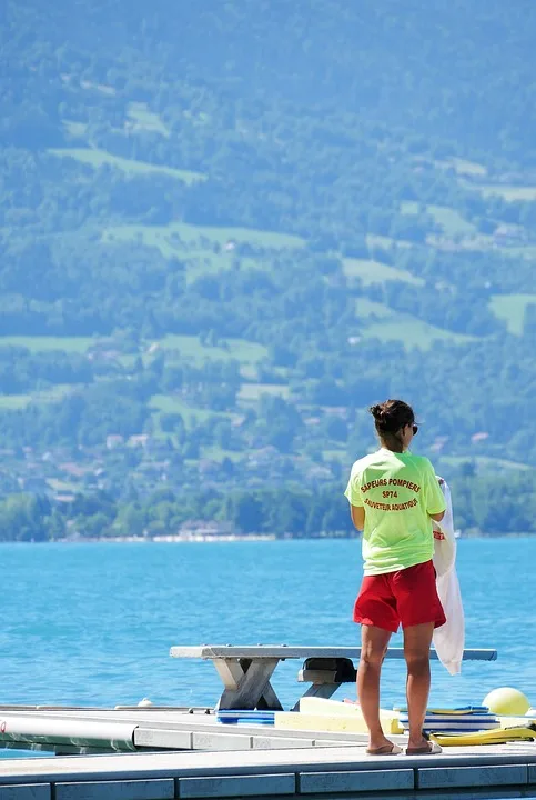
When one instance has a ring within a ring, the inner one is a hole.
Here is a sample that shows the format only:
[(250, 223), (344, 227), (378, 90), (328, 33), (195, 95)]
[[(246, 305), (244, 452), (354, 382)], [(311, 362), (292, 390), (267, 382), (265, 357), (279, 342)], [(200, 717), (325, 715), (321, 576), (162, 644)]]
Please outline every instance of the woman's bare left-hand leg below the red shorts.
[(357, 669), (357, 697), (368, 728), (368, 749), (385, 747), (390, 740), (380, 722), (380, 673), (391, 631), (374, 626), (361, 627), (361, 660)]

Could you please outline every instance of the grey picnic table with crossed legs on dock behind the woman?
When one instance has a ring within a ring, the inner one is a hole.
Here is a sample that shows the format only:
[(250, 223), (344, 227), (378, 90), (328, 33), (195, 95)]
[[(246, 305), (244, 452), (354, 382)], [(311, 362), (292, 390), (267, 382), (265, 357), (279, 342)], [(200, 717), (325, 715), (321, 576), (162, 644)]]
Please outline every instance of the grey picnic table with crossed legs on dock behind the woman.
[[(280, 661), (302, 660), (297, 680), (312, 686), (302, 697), (330, 698), (342, 683), (355, 681), (354, 660), (361, 658), (360, 647), (293, 647), (289, 644), (202, 644), (172, 647), (173, 658), (212, 661), (223, 682), (216, 709), (283, 710), (270, 680)], [(403, 648), (388, 648), (388, 659), (404, 659)], [(464, 661), (495, 661), (496, 650), (464, 650)], [(431, 659), (437, 659), (431, 650)], [(300, 700), (293, 710), (300, 708)]]

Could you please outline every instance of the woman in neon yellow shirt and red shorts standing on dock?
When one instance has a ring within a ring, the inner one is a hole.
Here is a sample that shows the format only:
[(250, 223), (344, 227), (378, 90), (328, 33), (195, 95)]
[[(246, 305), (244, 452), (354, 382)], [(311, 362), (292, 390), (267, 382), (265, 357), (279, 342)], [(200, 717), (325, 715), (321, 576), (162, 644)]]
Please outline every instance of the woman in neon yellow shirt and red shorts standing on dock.
[(429, 647), (434, 628), (445, 622), (432, 563), (432, 520), (439, 522), (445, 500), (428, 459), (408, 452), (418, 427), (411, 406), (386, 400), (370, 409), (380, 450), (352, 467), (345, 496), (352, 521), (363, 531), (364, 578), (354, 606), (362, 624), (357, 696), (368, 728), (367, 752), (402, 752), (380, 722), (380, 672), (391, 634), (402, 623), (407, 666), (408, 756), (441, 752), (423, 734), (429, 694)]

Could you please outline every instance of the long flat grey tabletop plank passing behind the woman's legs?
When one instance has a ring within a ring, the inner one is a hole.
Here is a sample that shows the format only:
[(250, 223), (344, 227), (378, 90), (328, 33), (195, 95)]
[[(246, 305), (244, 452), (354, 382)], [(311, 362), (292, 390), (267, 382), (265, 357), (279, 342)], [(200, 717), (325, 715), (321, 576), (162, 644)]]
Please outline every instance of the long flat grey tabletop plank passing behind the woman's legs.
[[(286, 644), (202, 644), (201, 647), (182, 647), (180, 644), (170, 649), (172, 658), (201, 658), (215, 659), (285, 659), (306, 658), (350, 658), (360, 659), (360, 647), (305, 647)], [(435, 650), (431, 650), (431, 659), (437, 660)], [(404, 659), (403, 648), (388, 648), (385, 658)], [(464, 650), (464, 661), (495, 661), (497, 651), (488, 648), (468, 648)]]

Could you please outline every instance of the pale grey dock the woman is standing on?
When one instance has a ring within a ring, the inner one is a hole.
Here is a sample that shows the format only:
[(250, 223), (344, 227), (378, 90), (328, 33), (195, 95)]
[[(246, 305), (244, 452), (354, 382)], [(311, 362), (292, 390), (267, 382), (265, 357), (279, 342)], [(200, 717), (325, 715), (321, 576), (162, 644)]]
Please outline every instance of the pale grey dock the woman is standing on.
[(536, 798), (536, 742), (370, 757), (362, 734), (219, 724), (208, 711), (0, 707), (2, 746), (85, 753), (2, 759), (0, 800)]

